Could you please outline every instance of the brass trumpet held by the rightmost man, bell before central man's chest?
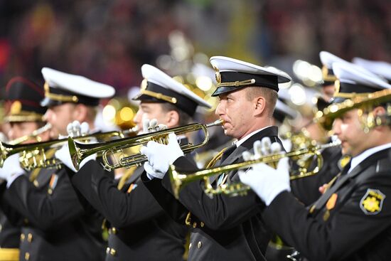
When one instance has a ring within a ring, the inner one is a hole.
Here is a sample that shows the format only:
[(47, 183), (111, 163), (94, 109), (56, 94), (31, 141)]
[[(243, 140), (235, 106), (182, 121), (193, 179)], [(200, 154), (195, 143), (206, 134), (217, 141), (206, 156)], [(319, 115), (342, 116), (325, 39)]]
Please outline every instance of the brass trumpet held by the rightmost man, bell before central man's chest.
[(213, 188), (213, 186), (210, 184), (210, 181), (208, 177), (215, 176), (218, 174), (223, 174), (229, 171), (239, 170), (239, 169), (246, 169), (252, 166), (253, 164), (258, 163), (264, 163), (264, 164), (275, 164), (280, 159), (289, 157), (293, 159), (294, 161), (300, 159), (303, 156), (309, 156), (309, 155), (316, 155), (317, 156), (317, 163), (318, 166), (315, 167), (312, 171), (301, 171), (299, 175), (291, 176), (290, 179), (300, 179), (304, 178), (306, 176), (312, 176), (316, 174), (321, 167), (323, 166), (323, 158), (321, 156), (321, 150), (326, 149), (329, 147), (336, 147), (340, 146), (341, 142), (338, 140), (336, 142), (331, 142), (328, 144), (321, 144), (321, 145), (311, 145), (309, 147), (298, 149), (296, 151), (290, 151), (290, 152), (280, 152), (277, 154), (271, 154), (268, 156), (263, 156), (259, 159), (254, 159), (250, 161), (244, 161), (237, 164), (229, 164), (225, 166), (218, 166), (212, 169), (201, 169), (199, 171), (191, 172), (191, 171), (180, 171), (176, 169), (175, 166), (171, 165), (168, 169), (168, 174), (170, 175), (171, 179), (171, 186), (173, 189), (174, 196), (178, 198), (179, 191), (181, 191), (181, 188), (183, 186), (186, 186), (188, 183), (193, 181), (198, 181), (200, 179), (204, 180), (205, 183), (205, 193), (208, 196), (213, 196), (216, 194), (226, 194), (230, 196), (238, 196), (238, 195), (245, 195), (247, 191), (250, 189), (250, 186), (246, 186), (242, 183), (232, 183), (232, 184), (223, 184), (218, 186), (217, 188)]

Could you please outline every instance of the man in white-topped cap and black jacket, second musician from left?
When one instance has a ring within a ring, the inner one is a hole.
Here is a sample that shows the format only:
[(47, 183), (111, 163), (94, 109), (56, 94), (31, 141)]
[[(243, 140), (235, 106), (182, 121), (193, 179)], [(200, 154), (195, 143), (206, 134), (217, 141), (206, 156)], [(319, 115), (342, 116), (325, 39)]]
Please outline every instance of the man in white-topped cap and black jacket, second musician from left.
[[(65, 135), (63, 125), (73, 120), (91, 122), (99, 98), (114, 95), (113, 87), (82, 76), (49, 68), (42, 73), (45, 99), (41, 104), (49, 107), (44, 118), (52, 125), (52, 133)], [(54, 152), (50, 150), (47, 157)], [(83, 209), (69, 173), (63, 166), (45, 169), (33, 182), (24, 175), (14, 175), (7, 182), (4, 198), (23, 217), (20, 260), (103, 259), (102, 218)]]

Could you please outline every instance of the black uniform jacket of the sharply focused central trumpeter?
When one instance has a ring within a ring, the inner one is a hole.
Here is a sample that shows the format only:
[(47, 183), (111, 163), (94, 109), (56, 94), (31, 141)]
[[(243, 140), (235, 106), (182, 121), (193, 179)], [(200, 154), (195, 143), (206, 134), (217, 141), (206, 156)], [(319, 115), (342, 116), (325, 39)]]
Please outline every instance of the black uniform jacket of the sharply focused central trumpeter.
[[(242, 161), (242, 152), (252, 151), (254, 142), (263, 137), (281, 144), (277, 132), (277, 127), (257, 132), (239, 147), (234, 147), (229, 155), (223, 156), (217, 165)], [(197, 169), (184, 157), (177, 159), (174, 165), (178, 169)], [(237, 182), (238, 178), (236, 171), (228, 174), (228, 182)], [(144, 175), (142, 179), (161, 206), (178, 222), (185, 223), (188, 212), (191, 212), (188, 260), (264, 260), (271, 233), (260, 213), (264, 204), (252, 191), (247, 196), (216, 195), (209, 198), (203, 191), (203, 181), (194, 181), (182, 189), (179, 201), (176, 201), (168, 174), (163, 180), (149, 181)]]

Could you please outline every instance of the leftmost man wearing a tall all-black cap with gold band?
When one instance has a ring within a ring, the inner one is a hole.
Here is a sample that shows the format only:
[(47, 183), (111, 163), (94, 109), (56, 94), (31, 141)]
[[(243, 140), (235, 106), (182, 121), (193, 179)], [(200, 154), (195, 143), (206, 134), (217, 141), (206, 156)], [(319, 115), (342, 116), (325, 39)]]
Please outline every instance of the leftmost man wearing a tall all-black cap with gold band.
[[(38, 140), (45, 141), (48, 139), (48, 132), (40, 132), (39, 135), (33, 136), (33, 132), (45, 125), (43, 114), (46, 108), (41, 107), (39, 102), (43, 98), (43, 88), (34, 82), (22, 77), (15, 77), (9, 80), (6, 85), (6, 117), (4, 122), (9, 124), (7, 137), (12, 144), (26, 144)], [(45, 129), (45, 128), (43, 128)], [(12, 159), (6, 160), (4, 168), (0, 169), (0, 175), (5, 182), (1, 184), (0, 193), (6, 190), (7, 181), (11, 181), (11, 174), (20, 172), (25, 174), (21, 169), (18, 161), (18, 155), (12, 156)], [(33, 172), (31, 180), (35, 180), (36, 174)], [(38, 173), (37, 173), (38, 174)], [(19, 260), (19, 243), (21, 237), (21, 216), (11, 210), (9, 204), (1, 203), (0, 210), (0, 260)], [(8, 211), (7, 211), (8, 209)], [(7, 216), (3, 210), (14, 215)], [(11, 222), (12, 223), (11, 223)], [(22, 229), (22, 233), (25, 231)]]

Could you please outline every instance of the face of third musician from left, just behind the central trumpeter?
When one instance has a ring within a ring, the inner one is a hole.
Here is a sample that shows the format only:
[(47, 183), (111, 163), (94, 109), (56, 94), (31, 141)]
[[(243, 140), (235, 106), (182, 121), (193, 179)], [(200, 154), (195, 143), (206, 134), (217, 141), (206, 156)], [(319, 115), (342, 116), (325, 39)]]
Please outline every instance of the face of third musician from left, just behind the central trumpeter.
[(143, 119), (157, 119), (159, 124), (165, 124), (168, 126), (167, 113), (163, 112), (160, 103), (141, 102), (139, 105), (139, 110), (133, 119), (134, 123), (136, 123), (140, 131), (143, 129)]

